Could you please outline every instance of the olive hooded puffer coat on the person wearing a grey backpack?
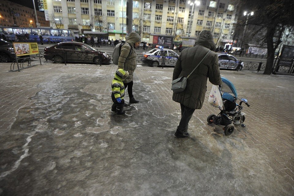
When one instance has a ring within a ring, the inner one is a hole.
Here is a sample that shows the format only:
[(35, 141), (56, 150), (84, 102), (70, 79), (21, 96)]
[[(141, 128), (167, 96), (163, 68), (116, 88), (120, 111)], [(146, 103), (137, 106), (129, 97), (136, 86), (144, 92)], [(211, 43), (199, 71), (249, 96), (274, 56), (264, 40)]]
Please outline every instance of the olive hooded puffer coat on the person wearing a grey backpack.
[(139, 36), (138, 33), (131, 32), (126, 40), (126, 43), (128, 44), (123, 44), (121, 48), (118, 69), (123, 69), (129, 72), (129, 76), (126, 77), (126, 79), (123, 81), (124, 83), (129, 83), (133, 81), (133, 73), (137, 67), (137, 62), (136, 62), (137, 54), (134, 50), (135, 42), (141, 42), (141, 37)]

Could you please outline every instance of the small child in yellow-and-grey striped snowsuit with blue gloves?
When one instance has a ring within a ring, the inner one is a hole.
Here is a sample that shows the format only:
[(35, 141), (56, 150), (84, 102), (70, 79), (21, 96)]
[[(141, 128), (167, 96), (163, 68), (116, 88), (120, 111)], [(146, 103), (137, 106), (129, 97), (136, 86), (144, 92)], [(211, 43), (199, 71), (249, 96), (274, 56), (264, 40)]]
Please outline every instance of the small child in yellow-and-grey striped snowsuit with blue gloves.
[(126, 111), (123, 110), (125, 100), (125, 86), (123, 85), (123, 80), (129, 76), (129, 72), (123, 69), (118, 69), (115, 72), (114, 79), (111, 82), (111, 99), (113, 104), (111, 106), (111, 111), (116, 111), (117, 114), (125, 114)]

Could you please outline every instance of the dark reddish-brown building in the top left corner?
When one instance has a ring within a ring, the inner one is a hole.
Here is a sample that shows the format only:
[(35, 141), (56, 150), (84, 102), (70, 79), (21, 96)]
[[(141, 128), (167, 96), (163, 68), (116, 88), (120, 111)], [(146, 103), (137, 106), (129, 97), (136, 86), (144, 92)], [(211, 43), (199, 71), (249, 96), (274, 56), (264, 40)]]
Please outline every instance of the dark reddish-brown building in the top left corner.
[[(0, 4), (0, 26), (37, 27), (34, 9), (6, 0), (1, 0)], [(37, 11), (37, 18), (38, 26), (50, 26), (43, 12)]]

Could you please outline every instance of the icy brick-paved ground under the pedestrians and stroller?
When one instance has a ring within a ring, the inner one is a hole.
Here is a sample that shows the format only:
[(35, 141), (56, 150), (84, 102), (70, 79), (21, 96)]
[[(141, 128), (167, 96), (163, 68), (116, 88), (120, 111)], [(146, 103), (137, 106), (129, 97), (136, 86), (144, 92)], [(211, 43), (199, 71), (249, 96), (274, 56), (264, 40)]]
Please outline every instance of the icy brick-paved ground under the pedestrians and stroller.
[(0, 195), (294, 193), (294, 77), (221, 71), (251, 104), (246, 128), (225, 136), (208, 125), (218, 111), (205, 100), (190, 138), (177, 139), (172, 68), (138, 67), (133, 91), (140, 103), (116, 115), (115, 66), (7, 67), (0, 68)]

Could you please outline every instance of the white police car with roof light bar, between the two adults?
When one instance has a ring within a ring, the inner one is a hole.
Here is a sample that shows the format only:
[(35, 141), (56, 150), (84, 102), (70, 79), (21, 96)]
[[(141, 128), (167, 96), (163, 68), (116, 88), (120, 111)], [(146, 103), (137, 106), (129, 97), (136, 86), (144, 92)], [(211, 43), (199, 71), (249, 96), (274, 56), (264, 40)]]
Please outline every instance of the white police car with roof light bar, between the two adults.
[(150, 51), (142, 52), (142, 55), (142, 62), (153, 67), (160, 66), (163, 61), (162, 58), (165, 58), (164, 65), (175, 66), (175, 62), (179, 58), (179, 55), (173, 50), (162, 46), (156, 46)]

